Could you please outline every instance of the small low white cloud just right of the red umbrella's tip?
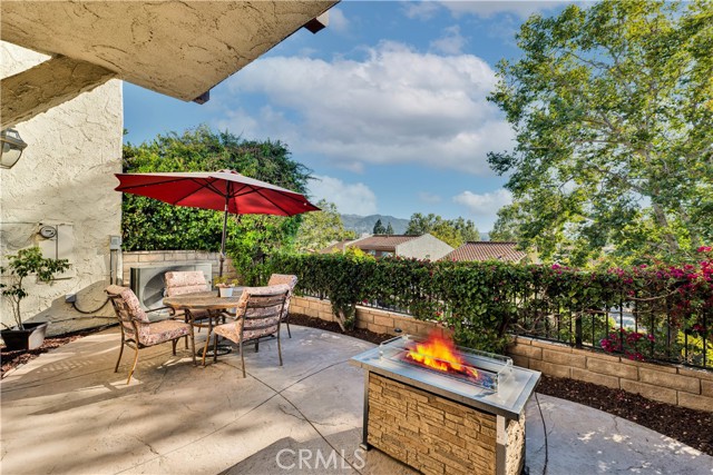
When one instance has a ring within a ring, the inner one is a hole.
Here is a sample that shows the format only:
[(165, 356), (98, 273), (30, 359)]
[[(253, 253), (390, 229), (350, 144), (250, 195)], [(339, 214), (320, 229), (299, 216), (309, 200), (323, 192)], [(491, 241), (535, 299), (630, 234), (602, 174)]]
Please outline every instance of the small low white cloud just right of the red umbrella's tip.
[(364, 184), (345, 184), (339, 178), (314, 175), (310, 195), (315, 201), (325, 199), (341, 214), (369, 216), (377, 212), (377, 196)]

